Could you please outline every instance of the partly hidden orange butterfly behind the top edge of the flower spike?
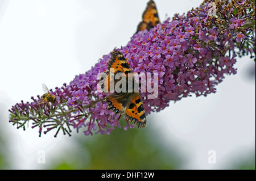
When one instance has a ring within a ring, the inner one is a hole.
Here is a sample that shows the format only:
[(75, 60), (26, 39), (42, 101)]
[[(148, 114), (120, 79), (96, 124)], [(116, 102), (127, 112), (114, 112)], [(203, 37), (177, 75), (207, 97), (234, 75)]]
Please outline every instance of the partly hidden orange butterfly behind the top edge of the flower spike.
[(150, 0), (147, 3), (146, 10), (142, 14), (142, 22), (139, 23), (136, 33), (142, 30), (150, 30), (159, 23), (158, 11), (156, 10), (155, 2)]

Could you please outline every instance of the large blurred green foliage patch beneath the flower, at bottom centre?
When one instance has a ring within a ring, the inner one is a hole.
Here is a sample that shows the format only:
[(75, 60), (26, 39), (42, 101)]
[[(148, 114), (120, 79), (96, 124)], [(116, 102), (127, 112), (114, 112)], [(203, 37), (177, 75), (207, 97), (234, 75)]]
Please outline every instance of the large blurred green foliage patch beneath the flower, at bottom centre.
[(148, 127), (115, 129), (110, 135), (79, 134), (80, 146), (72, 150), (77, 158), (64, 157), (51, 169), (177, 169), (181, 163), (170, 143), (154, 137)]

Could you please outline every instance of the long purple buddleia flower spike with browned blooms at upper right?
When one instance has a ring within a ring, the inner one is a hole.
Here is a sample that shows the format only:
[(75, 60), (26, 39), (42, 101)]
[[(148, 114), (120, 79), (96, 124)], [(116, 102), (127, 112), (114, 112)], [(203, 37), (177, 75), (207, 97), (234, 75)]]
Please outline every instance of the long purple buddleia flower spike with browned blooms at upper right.
[[(255, 24), (250, 24), (255, 12), (249, 1), (234, 5), (222, 1), (216, 8), (217, 17), (208, 16), (208, 3), (187, 15), (176, 14), (150, 31), (138, 32), (118, 49), (133, 72), (158, 73), (157, 98), (147, 99), (150, 93), (141, 93), (147, 115), (163, 110), (171, 100), (216, 92), (215, 86), (225, 74), (236, 74), (237, 54), (252, 56), (255, 52)], [(240, 9), (246, 10), (238, 14)], [(244, 27), (248, 23), (250, 26)], [(55, 104), (39, 105), (39, 96), (32, 98), (32, 103), (16, 104), (10, 110), (10, 122), (24, 128), (26, 121), (33, 120), (39, 133), (43, 128), (44, 133), (56, 128), (56, 134), (60, 129), (70, 134), (71, 126), (77, 131), (84, 129), (85, 135), (109, 134), (114, 127), (121, 127), (121, 116), (108, 110), (106, 95), (97, 87), (97, 75), (107, 70), (109, 60), (110, 53), (85, 74), (76, 75), (69, 85), (51, 91), (57, 96)], [(133, 127), (127, 123), (124, 128)]]

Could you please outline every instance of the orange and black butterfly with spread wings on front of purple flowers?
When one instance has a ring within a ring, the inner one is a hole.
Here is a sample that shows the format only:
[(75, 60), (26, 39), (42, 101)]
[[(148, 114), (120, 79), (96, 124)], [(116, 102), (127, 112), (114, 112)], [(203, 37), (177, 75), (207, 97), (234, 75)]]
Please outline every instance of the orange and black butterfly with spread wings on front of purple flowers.
[[(109, 71), (106, 71), (105, 73), (101, 74), (100, 81), (98, 81), (98, 85), (101, 87), (101, 89), (105, 92), (110, 92), (111, 85), (110, 82), (114, 82), (115, 84), (119, 80), (115, 80), (113, 76), (115, 76), (117, 73), (123, 73), (126, 78), (126, 87), (128, 86), (128, 83), (135, 83), (135, 78), (133, 76), (133, 72), (130, 69), (129, 64), (127, 63), (125, 57), (121, 52), (118, 50), (114, 50), (111, 53), (110, 61), (108, 62), (107, 68)], [(114, 74), (110, 72), (111, 70), (114, 70)], [(130, 74), (129, 74), (130, 73)], [(130, 76), (133, 76), (131, 78)], [(130, 77), (130, 78), (129, 78)], [(129, 82), (129, 80), (132, 79), (132, 82)], [(100, 84), (102, 83), (102, 85)], [(108, 86), (108, 90), (105, 88)], [(141, 98), (141, 93), (139, 91), (136, 91), (135, 86), (133, 86), (133, 90), (126, 92), (117, 92), (114, 90), (113, 94), (110, 94), (106, 96), (106, 102), (108, 103), (108, 110), (112, 110), (117, 115), (125, 115), (126, 119), (137, 124), (138, 128), (144, 128), (146, 125), (146, 115), (143, 107), (143, 102)]]

